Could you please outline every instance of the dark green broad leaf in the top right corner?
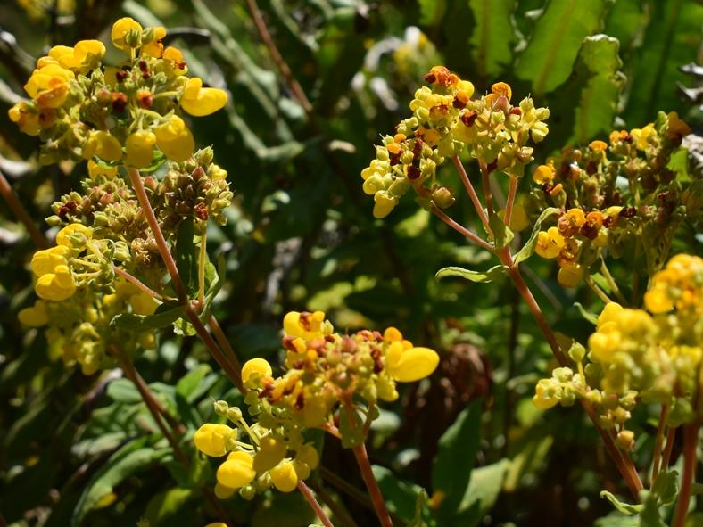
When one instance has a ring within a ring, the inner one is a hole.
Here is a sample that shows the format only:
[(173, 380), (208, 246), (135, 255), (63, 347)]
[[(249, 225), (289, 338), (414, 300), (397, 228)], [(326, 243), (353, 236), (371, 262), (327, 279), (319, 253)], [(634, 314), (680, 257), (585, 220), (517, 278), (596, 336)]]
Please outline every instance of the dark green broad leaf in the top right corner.
[(690, 84), (679, 67), (698, 62), (701, 8), (695, 0), (649, 2), (649, 25), (641, 49), (633, 54), (629, 97), (624, 120), (629, 128), (642, 128), (657, 117), (658, 110), (679, 111), (686, 106), (676, 82)]

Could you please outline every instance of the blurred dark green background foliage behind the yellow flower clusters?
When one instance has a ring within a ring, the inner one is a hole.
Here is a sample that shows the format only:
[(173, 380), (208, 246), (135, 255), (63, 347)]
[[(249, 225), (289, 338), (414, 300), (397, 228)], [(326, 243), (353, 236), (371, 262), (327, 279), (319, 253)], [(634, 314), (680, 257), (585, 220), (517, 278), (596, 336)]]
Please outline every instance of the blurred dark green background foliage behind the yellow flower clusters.
[[(600, 527), (633, 524), (608, 515), (611, 507), (599, 497), (602, 488), (624, 488), (583, 416), (553, 410), (547, 420), (533, 408), (533, 384), (548, 369), (550, 352), (511, 285), (500, 278), (490, 285), (435, 280), (444, 266), (487, 269), (488, 255), (411, 200), (385, 221), (373, 219), (359, 174), (379, 134), (407, 113), (422, 74), (437, 63), (471, 79), (479, 93), (500, 79), (516, 95), (550, 106), (550, 136), (537, 161), (567, 143), (641, 127), (658, 110), (678, 111), (699, 127), (699, 108), (682, 89), (699, 80), (681, 70), (699, 62), (698, 2), (261, 0), (265, 23), (310, 99), (307, 111), (244, 2), (75, 0), (66, 12), (43, 4), (34, 16), (20, 3), (0, 5), (0, 169), (42, 230), (50, 203), (77, 186), (85, 166), (37, 166), (34, 139), (7, 117), (36, 57), (50, 45), (107, 40), (119, 16), (164, 25), (191, 72), (231, 95), (226, 111), (191, 126), (199, 145), (213, 146), (236, 194), (227, 226), (212, 226), (208, 239), (211, 261), (222, 258), (227, 269), (214, 312), (239, 357), (277, 362), (278, 327), (290, 309), (324, 309), (343, 330), (395, 325), (441, 351), (439, 371), (402, 393), (373, 428), (372, 461), (399, 525), (430, 517), (457, 526), (575, 526), (597, 518)], [(452, 213), (477, 226), (468, 200), (459, 198)], [(4, 203), (0, 214), (5, 521), (214, 521), (218, 512), (202, 492), (214, 482), (211, 465), (189, 436), (211, 419), (212, 398), (236, 402), (236, 391), (193, 338), (163, 333), (158, 351), (136, 359), (188, 431), (184, 470), (119, 369), (89, 378), (65, 369), (49, 362), (41, 333), (20, 327), (16, 314), (32, 299), (27, 264), (34, 247)], [(684, 226), (676, 246), (699, 252), (695, 235)], [(523, 265), (553, 326), (583, 340), (592, 325), (574, 302), (597, 312), (599, 301), (559, 288), (549, 262)], [(649, 431), (652, 418), (636, 416)], [(651, 445), (641, 437), (633, 456), (646, 466)], [(349, 452), (329, 444), (323, 465), (313, 486), (327, 489), (335, 522), (373, 524)], [(420, 488), (430, 497), (441, 490), (446, 501), (434, 495), (430, 512), (421, 498), (417, 508)], [(222, 506), (232, 525), (315, 521), (297, 493)]]

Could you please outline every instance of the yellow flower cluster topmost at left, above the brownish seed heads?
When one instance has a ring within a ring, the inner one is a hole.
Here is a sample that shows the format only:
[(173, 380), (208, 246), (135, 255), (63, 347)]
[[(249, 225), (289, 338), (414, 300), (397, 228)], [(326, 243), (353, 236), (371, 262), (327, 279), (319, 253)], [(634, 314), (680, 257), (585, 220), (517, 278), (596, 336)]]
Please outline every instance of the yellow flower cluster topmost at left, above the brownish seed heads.
[(41, 137), (40, 161), (98, 158), (144, 169), (163, 156), (190, 158), (194, 138), (178, 113), (209, 115), (227, 103), (227, 93), (187, 78), (183, 54), (164, 49), (165, 36), (162, 27), (123, 18), (111, 37), (128, 54), (124, 62), (105, 66), (98, 40), (56, 45), (41, 57), (24, 86), (31, 100), (9, 111), (24, 133)]

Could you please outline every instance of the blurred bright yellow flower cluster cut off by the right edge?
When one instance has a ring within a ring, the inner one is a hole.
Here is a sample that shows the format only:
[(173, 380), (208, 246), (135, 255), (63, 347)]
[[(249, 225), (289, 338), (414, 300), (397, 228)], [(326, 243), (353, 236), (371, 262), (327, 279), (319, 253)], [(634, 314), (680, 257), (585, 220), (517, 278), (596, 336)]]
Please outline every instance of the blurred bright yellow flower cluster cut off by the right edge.
[(555, 369), (537, 384), (534, 404), (550, 408), (587, 399), (604, 427), (623, 433), (618, 444), (627, 448), (634, 436), (624, 424), (638, 400), (670, 408), (670, 425), (691, 422), (703, 410), (693, 401), (703, 359), (703, 259), (687, 254), (670, 259), (653, 277), (645, 308), (608, 303), (589, 337), (587, 356), (578, 343), (569, 351), (578, 373)]

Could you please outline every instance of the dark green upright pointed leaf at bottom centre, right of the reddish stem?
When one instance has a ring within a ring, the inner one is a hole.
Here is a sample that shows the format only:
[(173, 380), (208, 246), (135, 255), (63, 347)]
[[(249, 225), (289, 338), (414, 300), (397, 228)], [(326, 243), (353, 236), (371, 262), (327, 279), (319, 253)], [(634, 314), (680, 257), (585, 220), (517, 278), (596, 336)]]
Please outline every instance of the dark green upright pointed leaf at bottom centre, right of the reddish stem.
[(432, 470), (432, 489), (444, 493), (438, 514), (449, 516), (464, 496), (481, 441), (483, 400), (464, 408), (442, 434)]

